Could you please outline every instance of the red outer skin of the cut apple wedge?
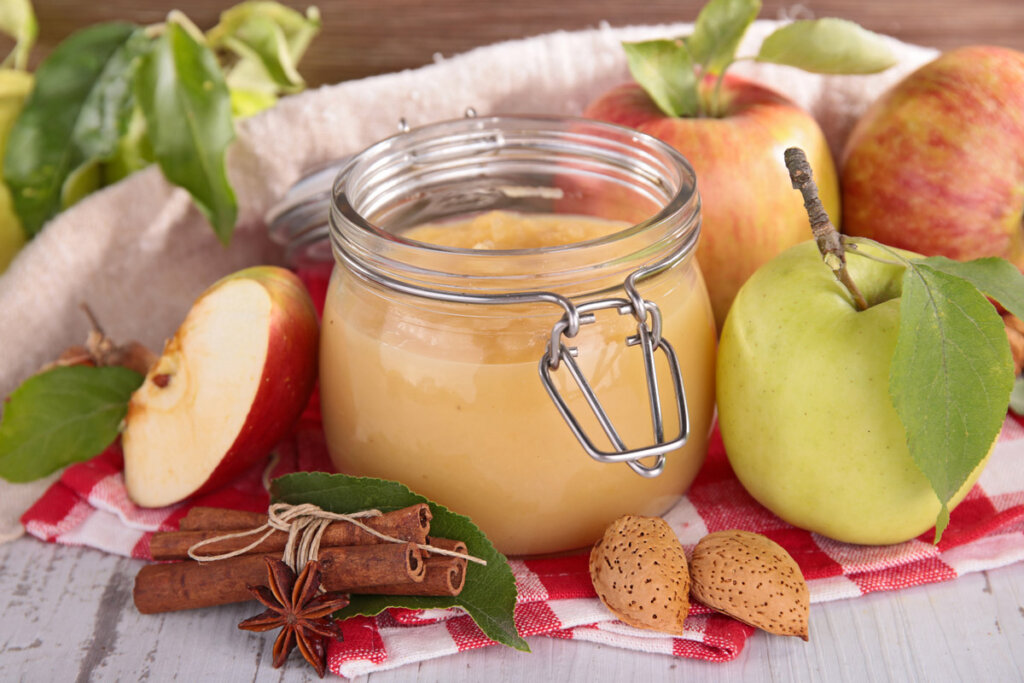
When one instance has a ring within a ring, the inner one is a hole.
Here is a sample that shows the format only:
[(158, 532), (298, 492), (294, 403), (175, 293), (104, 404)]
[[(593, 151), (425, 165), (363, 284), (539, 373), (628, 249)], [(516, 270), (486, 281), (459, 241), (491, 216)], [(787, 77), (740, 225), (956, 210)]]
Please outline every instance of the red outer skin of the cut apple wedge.
[[(205, 297), (231, 282), (250, 280), (260, 285), (270, 298), (269, 337), (259, 387), (252, 400), (244, 425), (230, 447), (206, 480), (186, 496), (165, 497), (151, 485), (138, 483), (133, 464), (132, 423), (139, 420), (147, 408), (136, 398), (139, 392), (154, 383), (155, 378), (167, 372), (167, 358), (178, 352), (181, 335), (189, 324), (186, 316), (181, 328), (165, 345), (164, 352), (146, 375), (142, 387), (135, 392), (125, 418), (123, 434), (125, 450), (125, 481), (129, 497), (144, 507), (161, 507), (184, 498), (202, 495), (229, 482), (248, 467), (267, 457), (270, 450), (286, 435), (301, 416), (316, 381), (319, 347), (319, 323), (316, 309), (301, 281), (290, 270), (278, 266), (254, 266), (231, 273), (214, 283), (204, 292), (193, 310)], [(226, 354), (231, 349), (224, 349)], [(170, 364), (173, 365), (173, 364)], [(189, 378), (191, 379), (191, 378)], [(196, 378), (202, 381), (202, 378)], [(174, 382), (174, 378), (170, 380)], [(153, 390), (153, 387), (150, 387)], [(230, 400), (232, 396), (224, 396)], [(180, 462), (168, 463), (168, 469)], [(133, 485), (135, 484), (135, 485)], [(143, 488), (144, 487), (144, 488)]]

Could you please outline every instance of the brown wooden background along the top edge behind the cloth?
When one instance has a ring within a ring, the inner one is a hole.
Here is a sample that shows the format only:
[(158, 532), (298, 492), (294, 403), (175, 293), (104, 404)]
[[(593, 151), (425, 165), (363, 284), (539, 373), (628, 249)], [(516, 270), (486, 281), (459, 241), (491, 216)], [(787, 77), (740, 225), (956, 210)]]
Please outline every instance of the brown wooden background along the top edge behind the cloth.
[[(183, 10), (209, 28), (232, 2), (207, 0), (37, 0), (38, 62), (75, 30), (95, 22), (161, 22)], [(304, 8), (306, 3), (288, 0)], [(479, 45), (607, 22), (614, 27), (691, 22), (702, 0), (321, 0), (323, 33), (301, 71), (311, 85), (337, 83), (429, 63)], [(796, 8), (796, 9), (794, 9)], [(1024, 49), (1020, 0), (767, 0), (761, 16), (842, 16), (902, 40), (943, 49), (988, 43)]]

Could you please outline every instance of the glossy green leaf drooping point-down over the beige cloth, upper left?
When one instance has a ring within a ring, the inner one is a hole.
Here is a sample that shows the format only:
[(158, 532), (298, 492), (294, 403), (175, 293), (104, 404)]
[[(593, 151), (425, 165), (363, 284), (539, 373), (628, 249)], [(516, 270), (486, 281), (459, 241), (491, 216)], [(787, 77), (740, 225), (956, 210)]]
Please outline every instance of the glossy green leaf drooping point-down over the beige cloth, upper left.
[(238, 217), (224, 156), (234, 138), (231, 101), (213, 52), (168, 24), (135, 80), (154, 156), (164, 175), (191, 195), (225, 245)]

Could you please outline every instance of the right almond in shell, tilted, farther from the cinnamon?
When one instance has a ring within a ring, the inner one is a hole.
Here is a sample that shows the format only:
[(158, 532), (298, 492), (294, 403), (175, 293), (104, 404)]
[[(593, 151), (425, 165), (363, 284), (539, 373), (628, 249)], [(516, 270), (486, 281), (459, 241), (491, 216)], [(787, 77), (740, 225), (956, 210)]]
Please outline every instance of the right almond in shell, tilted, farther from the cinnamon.
[(807, 640), (810, 593), (796, 560), (766, 537), (730, 529), (700, 539), (690, 557), (693, 597), (768, 633)]

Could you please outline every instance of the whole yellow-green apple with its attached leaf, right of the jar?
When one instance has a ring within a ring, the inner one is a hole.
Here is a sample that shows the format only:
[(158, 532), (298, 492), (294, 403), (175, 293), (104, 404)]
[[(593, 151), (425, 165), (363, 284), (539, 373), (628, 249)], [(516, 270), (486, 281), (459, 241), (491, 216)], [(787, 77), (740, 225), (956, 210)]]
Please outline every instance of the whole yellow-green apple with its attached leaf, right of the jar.
[(1014, 380), (985, 295), (1024, 310), (1024, 280), (1000, 259), (855, 245), (859, 305), (814, 242), (739, 290), (719, 346), (719, 419), (762, 505), (838, 541), (892, 544), (937, 520), (941, 532), (981, 474)]

